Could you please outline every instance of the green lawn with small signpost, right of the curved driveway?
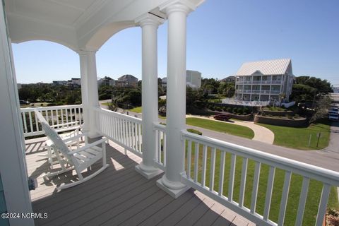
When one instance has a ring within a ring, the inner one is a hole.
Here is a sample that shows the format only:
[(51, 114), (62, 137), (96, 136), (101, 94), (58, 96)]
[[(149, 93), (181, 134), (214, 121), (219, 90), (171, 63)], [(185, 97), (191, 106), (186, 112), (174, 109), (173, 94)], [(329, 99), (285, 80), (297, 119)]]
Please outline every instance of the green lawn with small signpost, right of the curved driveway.
[[(323, 149), (328, 146), (330, 138), (330, 125), (327, 120), (319, 121), (311, 124), (306, 128), (293, 128), (287, 126), (273, 126), (268, 124), (258, 124), (270, 129), (274, 133), (274, 144), (285, 146), (287, 148), (296, 148), (301, 150)], [(321, 133), (319, 145), (317, 134)], [(309, 137), (311, 135), (311, 143), (309, 145)]]

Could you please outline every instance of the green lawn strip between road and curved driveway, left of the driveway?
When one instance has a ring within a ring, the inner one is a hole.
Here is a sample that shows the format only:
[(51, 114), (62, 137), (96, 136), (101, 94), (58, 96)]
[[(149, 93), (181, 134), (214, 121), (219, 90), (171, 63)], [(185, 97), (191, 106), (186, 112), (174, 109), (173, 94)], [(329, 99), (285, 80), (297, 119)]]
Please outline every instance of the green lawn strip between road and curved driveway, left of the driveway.
[(244, 138), (253, 138), (254, 131), (245, 127), (234, 125), (230, 123), (213, 121), (209, 119), (199, 119), (199, 118), (186, 118), (186, 124), (191, 126), (198, 126), (204, 129), (210, 129), (213, 131), (218, 131), (222, 133), (229, 133), (234, 136), (242, 136)]

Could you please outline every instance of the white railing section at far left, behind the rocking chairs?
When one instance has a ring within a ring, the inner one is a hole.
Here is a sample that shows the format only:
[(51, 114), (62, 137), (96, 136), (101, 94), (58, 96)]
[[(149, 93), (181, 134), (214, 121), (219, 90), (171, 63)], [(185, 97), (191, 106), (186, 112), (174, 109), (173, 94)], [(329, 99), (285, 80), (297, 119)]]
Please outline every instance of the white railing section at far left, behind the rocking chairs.
[(64, 105), (53, 107), (27, 107), (21, 108), (21, 118), (23, 121), (23, 134), (25, 137), (44, 134), (34, 111), (37, 110), (44, 115), (50, 125), (57, 131), (66, 131), (72, 127), (80, 126), (83, 123), (82, 105)]

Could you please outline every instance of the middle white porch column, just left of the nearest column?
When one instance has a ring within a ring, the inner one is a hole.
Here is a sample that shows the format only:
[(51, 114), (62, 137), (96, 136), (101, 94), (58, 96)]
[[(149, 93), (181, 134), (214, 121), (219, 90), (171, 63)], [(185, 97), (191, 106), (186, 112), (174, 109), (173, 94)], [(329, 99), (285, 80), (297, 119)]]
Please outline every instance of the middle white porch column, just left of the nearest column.
[(153, 167), (156, 156), (156, 133), (153, 123), (157, 118), (157, 27), (163, 19), (150, 13), (138, 18), (136, 21), (142, 28), (142, 106), (143, 106), (143, 162), (136, 166), (136, 171), (147, 179), (162, 173), (162, 170)]

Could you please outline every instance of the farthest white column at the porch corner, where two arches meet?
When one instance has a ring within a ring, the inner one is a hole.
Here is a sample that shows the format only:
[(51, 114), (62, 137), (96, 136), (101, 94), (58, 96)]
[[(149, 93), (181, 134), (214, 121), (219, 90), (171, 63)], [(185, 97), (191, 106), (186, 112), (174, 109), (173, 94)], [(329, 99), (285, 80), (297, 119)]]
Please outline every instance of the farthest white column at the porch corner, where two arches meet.
[(99, 136), (95, 124), (94, 108), (99, 107), (97, 93), (97, 65), (95, 51), (80, 51), (81, 99), (83, 103), (83, 129), (90, 138)]

